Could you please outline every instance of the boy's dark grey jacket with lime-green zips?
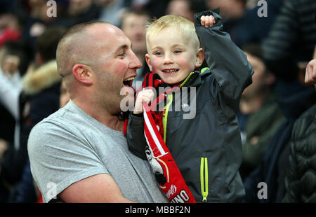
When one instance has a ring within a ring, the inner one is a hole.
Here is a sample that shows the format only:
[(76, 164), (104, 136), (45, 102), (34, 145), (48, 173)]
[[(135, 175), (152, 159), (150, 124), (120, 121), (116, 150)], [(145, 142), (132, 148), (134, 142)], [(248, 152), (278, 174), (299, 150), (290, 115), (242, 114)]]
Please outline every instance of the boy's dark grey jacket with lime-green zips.
[[(216, 24), (209, 28), (200, 25), (199, 18), (211, 14)], [(172, 100), (173, 109), (165, 114), (165, 142), (197, 202), (205, 199), (207, 202), (240, 202), (244, 186), (238, 172), (242, 143), (236, 111), (244, 88), (251, 83), (253, 69), (244, 52), (222, 31), (217, 13), (197, 13), (195, 29), (211, 70), (190, 73), (183, 85), (196, 87), (196, 95), (192, 97), (196, 106), (191, 97), (187, 97), (189, 112), (195, 113), (195, 118), (184, 119), (183, 115), (188, 112), (183, 111), (180, 100), (173, 100), (174, 92), (167, 97)], [(190, 88), (187, 89), (190, 92)], [(176, 108), (180, 111), (175, 111)], [(145, 158), (143, 118), (130, 115), (127, 131), (131, 152)], [(208, 170), (203, 171), (201, 165), (206, 162)], [(202, 185), (208, 189), (204, 197)]]

